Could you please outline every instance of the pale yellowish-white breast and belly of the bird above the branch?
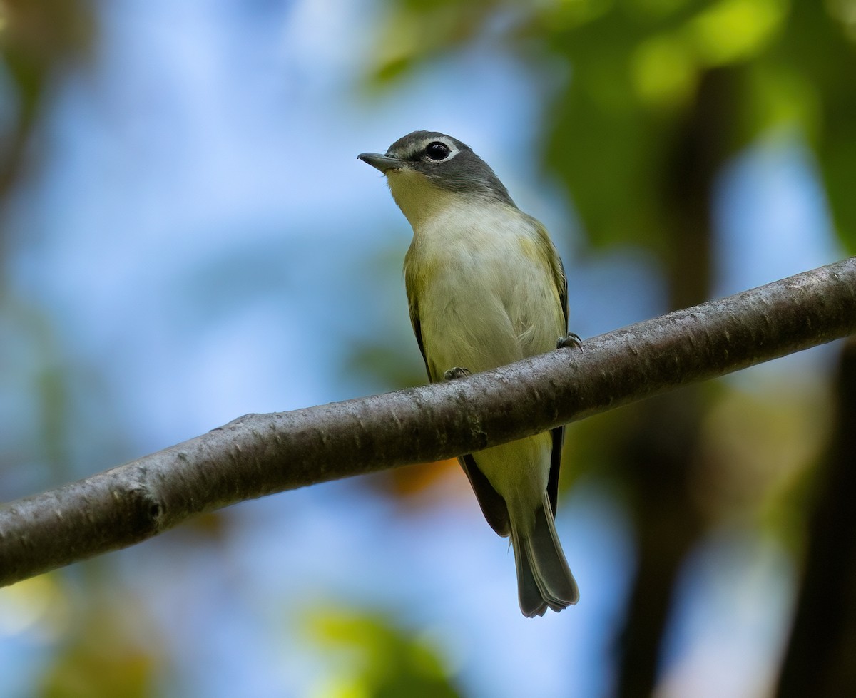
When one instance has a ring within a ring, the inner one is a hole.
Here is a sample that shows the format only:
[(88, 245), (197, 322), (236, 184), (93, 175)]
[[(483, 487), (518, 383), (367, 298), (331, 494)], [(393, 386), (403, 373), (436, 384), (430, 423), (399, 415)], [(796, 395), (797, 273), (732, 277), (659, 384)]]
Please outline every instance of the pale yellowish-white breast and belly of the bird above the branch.
[(550, 248), (539, 244), (531, 219), (506, 204), (450, 196), (438, 214), (414, 226), (406, 258), (432, 377), (555, 348), (564, 316)]

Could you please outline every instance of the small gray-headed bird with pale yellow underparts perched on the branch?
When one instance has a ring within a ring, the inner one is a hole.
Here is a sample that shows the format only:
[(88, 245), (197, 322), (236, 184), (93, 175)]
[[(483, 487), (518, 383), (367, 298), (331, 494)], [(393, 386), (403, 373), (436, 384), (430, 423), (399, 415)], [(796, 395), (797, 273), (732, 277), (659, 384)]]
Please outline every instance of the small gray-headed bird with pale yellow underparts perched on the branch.
[[(413, 228), (407, 305), (431, 382), (581, 348), (568, 333), (568, 281), (556, 246), (472, 148), (414, 131), (383, 154), (358, 157), (386, 176)], [(559, 427), (459, 458), (484, 518), (511, 538), (527, 618), (580, 598), (556, 534), (563, 438)]]

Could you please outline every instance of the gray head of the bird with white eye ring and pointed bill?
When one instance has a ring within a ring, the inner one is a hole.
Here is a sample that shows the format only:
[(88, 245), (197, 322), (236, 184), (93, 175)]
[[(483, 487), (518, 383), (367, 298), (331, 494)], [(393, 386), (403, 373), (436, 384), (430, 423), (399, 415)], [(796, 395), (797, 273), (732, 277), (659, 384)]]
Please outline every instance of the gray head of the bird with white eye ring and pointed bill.
[(402, 195), (406, 195), (406, 190), (430, 190), (430, 185), (442, 192), (514, 205), (508, 190), (490, 166), (469, 145), (445, 133), (413, 131), (396, 140), (383, 155), (360, 153), (358, 157), (387, 175), (389, 187), (402, 210), (405, 208)]

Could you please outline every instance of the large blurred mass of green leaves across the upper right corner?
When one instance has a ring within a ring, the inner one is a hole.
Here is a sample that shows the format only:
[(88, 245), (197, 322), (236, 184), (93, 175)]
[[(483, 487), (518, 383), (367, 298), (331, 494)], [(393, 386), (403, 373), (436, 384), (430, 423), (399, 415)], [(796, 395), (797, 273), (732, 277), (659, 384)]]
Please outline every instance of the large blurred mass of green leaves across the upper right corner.
[[(797, 128), (817, 155), (841, 240), (856, 250), (856, 29), (847, 0), (389, 0), (375, 86), (474, 41), (519, 53), (535, 75), (568, 75), (541, 130), (594, 245), (671, 253), (675, 202), (664, 158), (712, 72), (728, 95), (710, 116), (722, 160), (772, 128)], [(720, 110), (722, 109), (722, 111)]]

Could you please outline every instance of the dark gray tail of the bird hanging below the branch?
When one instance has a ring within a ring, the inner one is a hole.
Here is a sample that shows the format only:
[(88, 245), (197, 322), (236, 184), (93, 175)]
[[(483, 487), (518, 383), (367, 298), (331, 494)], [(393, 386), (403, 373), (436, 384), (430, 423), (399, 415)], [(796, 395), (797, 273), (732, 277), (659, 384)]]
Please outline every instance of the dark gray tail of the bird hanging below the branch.
[(548, 606), (561, 611), (580, 600), (580, 589), (562, 553), (546, 493), (535, 512), (531, 531), (520, 531), (512, 521), (511, 543), (523, 615), (527, 618), (543, 616)]

